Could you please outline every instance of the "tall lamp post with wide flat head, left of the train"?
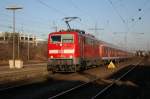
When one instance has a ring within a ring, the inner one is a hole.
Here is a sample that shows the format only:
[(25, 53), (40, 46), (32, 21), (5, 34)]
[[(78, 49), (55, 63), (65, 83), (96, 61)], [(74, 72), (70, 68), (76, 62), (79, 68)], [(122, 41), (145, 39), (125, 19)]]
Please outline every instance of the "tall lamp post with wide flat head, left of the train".
[(15, 11), (22, 9), (22, 7), (17, 7), (16, 5), (12, 5), (6, 8), (7, 10), (13, 11), (13, 67), (15, 67)]

